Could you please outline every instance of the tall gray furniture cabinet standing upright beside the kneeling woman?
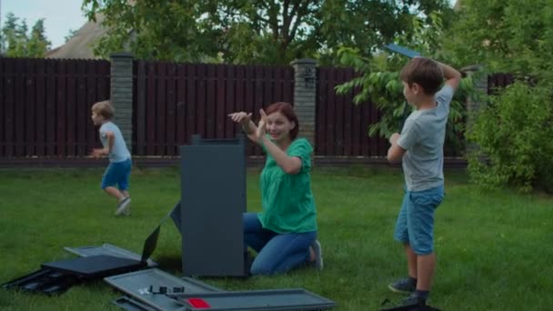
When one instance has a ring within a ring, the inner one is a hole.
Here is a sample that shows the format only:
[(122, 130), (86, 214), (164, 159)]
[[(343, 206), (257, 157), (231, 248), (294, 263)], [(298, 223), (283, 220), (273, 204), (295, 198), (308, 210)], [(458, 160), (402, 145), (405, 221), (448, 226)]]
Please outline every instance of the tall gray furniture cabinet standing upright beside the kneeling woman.
[(180, 156), (183, 276), (246, 276), (244, 139), (195, 136)]

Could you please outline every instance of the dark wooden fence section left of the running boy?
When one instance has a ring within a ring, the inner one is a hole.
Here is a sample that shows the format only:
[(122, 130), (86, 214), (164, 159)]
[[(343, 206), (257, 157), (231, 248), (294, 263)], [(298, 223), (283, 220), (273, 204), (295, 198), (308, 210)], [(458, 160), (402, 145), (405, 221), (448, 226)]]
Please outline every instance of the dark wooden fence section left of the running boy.
[(90, 106), (109, 98), (110, 63), (0, 58), (0, 156), (86, 156)]

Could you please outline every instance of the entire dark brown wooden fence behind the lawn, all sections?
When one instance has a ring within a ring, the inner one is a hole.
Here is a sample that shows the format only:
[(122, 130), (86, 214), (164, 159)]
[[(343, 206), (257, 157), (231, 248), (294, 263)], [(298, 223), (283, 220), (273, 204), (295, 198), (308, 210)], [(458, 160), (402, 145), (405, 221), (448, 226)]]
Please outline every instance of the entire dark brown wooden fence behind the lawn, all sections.
[[(188, 144), (193, 134), (234, 137), (239, 126), (227, 117), (233, 111), (257, 117), (269, 103), (294, 105), (289, 65), (136, 60), (133, 71), (129, 144), (136, 156), (177, 156), (178, 145)], [(0, 157), (78, 158), (100, 145), (90, 107), (110, 96), (108, 61), (0, 58), (0, 74)], [(381, 116), (376, 106), (354, 105), (354, 91), (335, 92), (353, 76), (352, 69), (317, 68), (316, 156), (386, 156), (386, 139), (367, 135), (368, 125)], [(490, 75), (488, 92), (512, 82), (512, 75)], [(250, 144), (246, 153), (259, 156), (261, 150)]]

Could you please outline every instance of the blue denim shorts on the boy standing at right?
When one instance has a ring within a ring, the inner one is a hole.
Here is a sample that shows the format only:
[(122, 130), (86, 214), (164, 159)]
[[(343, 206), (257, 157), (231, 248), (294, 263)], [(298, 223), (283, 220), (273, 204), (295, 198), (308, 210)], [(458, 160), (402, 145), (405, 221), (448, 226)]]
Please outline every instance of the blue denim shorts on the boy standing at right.
[(407, 191), (397, 216), (394, 237), (408, 244), (417, 255), (434, 251), (434, 211), (444, 199), (444, 186)]

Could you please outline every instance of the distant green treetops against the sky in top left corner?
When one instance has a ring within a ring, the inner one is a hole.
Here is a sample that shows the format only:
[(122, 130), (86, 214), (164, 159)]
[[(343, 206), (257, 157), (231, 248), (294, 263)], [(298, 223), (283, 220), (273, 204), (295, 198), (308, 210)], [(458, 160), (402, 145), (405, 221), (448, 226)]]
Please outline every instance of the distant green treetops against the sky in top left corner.
[(13, 13), (8, 13), (0, 37), (0, 54), (7, 57), (44, 57), (50, 48), (50, 41), (45, 37), (44, 18), (36, 21), (28, 35), (27, 32), (26, 21), (20, 21)]

